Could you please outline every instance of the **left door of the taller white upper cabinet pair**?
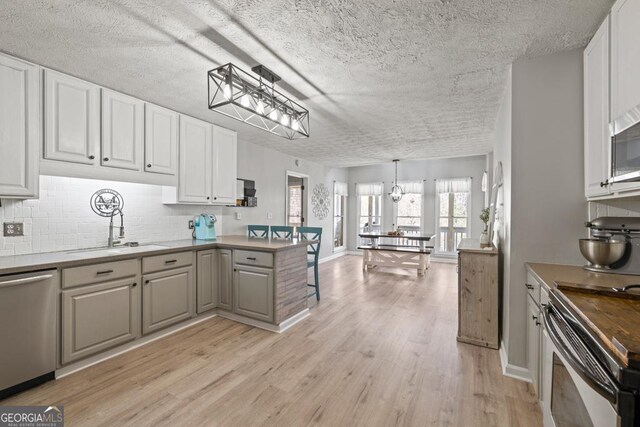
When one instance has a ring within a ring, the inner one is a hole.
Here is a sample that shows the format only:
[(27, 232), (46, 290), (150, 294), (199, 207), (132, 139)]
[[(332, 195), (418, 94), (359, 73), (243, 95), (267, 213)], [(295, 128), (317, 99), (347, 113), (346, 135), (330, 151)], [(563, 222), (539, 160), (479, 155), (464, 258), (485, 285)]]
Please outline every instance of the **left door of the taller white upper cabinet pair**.
[(213, 125), (180, 116), (178, 202), (210, 203)]

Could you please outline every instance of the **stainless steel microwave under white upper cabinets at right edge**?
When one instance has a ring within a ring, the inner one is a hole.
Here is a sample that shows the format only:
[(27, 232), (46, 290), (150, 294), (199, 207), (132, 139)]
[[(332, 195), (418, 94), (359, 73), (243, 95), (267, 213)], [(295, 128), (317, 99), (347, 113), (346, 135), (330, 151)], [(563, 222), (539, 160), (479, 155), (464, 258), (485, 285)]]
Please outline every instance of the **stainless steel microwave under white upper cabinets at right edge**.
[(611, 178), (608, 182), (640, 181), (640, 105), (609, 125)]

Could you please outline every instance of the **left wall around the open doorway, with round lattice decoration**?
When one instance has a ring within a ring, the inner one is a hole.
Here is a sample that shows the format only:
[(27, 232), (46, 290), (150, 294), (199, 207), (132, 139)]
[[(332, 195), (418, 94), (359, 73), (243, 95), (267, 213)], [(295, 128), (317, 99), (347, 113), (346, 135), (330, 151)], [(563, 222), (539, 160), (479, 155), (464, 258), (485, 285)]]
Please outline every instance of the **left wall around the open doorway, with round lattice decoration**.
[[(240, 136), (240, 135), (239, 135)], [(292, 144), (301, 142), (293, 141)], [(322, 258), (333, 254), (333, 181), (347, 182), (348, 171), (345, 168), (328, 168), (319, 163), (298, 159), (278, 151), (270, 150), (242, 140), (238, 141), (238, 178), (250, 179), (256, 182), (257, 208), (225, 207), (222, 213), (222, 232), (224, 234), (246, 234), (247, 225), (284, 225), (286, 172), (294, 171), (309, 175), (307, 188), (307, 225), (322, 227), (322, 242), (320, 256)], [(331, 194), (329, 215), (320, 220), (313, 215), (311, 209), (311, 194), (313, 188), (324, 183)], [(236, 219), (236, 213), (242, 216)], [(269, 219), (268, 214), (273, 214)]]

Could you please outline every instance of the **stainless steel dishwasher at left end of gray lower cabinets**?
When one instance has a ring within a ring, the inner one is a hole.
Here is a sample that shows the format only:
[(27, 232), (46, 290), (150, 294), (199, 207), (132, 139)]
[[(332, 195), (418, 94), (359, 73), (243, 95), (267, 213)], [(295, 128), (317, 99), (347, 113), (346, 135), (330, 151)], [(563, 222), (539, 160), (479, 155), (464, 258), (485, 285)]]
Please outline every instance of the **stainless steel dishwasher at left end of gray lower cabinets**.
[(0, 276), (0, 399), (54, 378), (56, 270)]

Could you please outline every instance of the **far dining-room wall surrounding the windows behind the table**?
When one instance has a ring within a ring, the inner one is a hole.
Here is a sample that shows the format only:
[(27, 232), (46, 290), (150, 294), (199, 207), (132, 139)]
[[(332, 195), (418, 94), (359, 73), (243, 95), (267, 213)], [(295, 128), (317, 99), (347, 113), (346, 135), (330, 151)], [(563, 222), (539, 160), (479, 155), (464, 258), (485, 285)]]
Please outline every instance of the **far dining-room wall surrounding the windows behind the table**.
[[(478, 237), (483, 230), (480, 211), (484, 208), (484, 193), (481, 190), (482, 175), (486, 168), (486, 156), (457, 157), (450, 159), (408, 160), (398, 164), (398, 181), (425, 181), (424, 221), (425, 230), (435, 230), (435, 180), (440, 178), (472, 177), (471, 235)], [(394, 164), (349, 168), (348, 239), (349, 250), (357, 245), (358, 217), (356, 212), (356, 183), (384, 182), (383, 229), (393, 225), (393, 202), (386, 196), (391, 192), (394, 180)], [(434, 232), (435, 234), (435, 232)]]

